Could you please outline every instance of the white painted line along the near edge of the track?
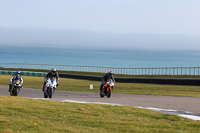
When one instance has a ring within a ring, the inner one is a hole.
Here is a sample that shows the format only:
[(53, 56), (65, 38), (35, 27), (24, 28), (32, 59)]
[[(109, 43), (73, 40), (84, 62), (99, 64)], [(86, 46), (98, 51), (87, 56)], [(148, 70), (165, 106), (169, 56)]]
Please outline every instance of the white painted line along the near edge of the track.
[[(122, 104), (115, 104), (115, 103), (103, 103), (103, 102), (87, 102), (87, 101), (75, 101), (75, 100), (58, 100), (58, 99), (49, 99), (49, 98), (32, 98), (32, 99), (43, 99), (43, 100), (56, 100), (61, 102), (72, 102), (72, 103), (86, 103), (86, 104), (101, 104), (101, 105), (112, 105), (112, 106), (124, 106)], [(191, 112), (183, 112), (183, 111), (177, 111), (172, 109), (160, 109), (160, 108), (154, 108), (154, 107), (141, 107), (141, 106), (135, 106), (136, 108), (141, 109), (148, 109), (159, 113), (168, 113), (168, 114), (174, 114), (181, 117), (189, 118), (192, 120), (200, 121), (200, 114), (195, 115)]]

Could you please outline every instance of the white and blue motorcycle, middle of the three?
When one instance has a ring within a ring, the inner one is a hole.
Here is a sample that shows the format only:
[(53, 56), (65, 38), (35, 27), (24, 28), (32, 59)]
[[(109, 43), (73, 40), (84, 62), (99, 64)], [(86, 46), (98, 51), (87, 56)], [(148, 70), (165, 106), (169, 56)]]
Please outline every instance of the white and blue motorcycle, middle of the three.
[(57, 82), (54, 77), (48, 78), (44, 87), (44, 98), (52, 98), (52, 95), (56, 89)]

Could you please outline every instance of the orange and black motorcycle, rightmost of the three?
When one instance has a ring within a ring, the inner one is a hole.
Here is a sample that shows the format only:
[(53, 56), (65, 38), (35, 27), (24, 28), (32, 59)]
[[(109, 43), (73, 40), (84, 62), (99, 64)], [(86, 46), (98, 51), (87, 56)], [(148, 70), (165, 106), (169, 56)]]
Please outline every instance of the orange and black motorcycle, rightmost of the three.
[(103, 98), (104, 96), (107, 96), (110, 98), (111, 92), (115, 86), (115, 83), (112, 79), (110, 79), (106, 84), (103, 86), (102, 90), (100, 90), (100, 97)]

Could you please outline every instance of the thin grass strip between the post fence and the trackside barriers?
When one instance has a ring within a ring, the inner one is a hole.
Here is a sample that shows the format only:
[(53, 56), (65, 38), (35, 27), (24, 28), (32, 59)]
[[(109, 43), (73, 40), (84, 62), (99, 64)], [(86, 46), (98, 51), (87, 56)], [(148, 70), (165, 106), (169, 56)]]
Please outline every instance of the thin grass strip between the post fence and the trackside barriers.
[[(35, 71), (35, 72), (49, 72), (50, 70), (44, 69), (25, 69), (25, 68), (0, 68), (0, 70), (21, 70), (21, 71)], [(99, 72), (77, 72), (77, 71), (60, 71), (59, 73), (77, 74), (77, 75), (90, 75), (90, 76), (103, 76), (105, 73)], [(143, 77), (143, 78), (200, 78), (198, 75), (125, 75), (114, 74), (115, 77)]]

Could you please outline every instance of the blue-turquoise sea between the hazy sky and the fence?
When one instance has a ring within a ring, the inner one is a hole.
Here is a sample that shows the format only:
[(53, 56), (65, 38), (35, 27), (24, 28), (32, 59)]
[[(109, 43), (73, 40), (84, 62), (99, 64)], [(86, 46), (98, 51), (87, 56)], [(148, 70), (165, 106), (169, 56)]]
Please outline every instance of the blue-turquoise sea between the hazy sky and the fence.
[(0, 46), (0, 63), (116, 68), (200, 67), (200, 51)]

